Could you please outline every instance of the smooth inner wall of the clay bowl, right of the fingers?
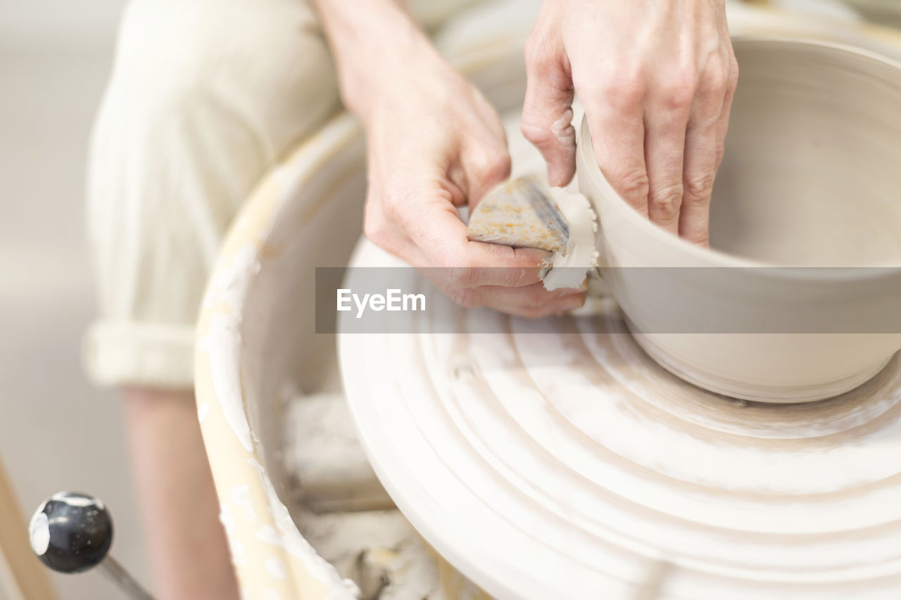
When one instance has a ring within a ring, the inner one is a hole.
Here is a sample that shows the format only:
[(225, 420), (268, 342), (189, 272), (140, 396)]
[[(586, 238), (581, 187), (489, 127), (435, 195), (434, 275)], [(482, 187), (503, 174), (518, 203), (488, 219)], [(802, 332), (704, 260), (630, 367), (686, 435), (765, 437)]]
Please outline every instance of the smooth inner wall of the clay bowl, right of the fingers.
[(901, 83), (876, 59), (736, 45), (711, 245), (778, 265), (901, 265)]

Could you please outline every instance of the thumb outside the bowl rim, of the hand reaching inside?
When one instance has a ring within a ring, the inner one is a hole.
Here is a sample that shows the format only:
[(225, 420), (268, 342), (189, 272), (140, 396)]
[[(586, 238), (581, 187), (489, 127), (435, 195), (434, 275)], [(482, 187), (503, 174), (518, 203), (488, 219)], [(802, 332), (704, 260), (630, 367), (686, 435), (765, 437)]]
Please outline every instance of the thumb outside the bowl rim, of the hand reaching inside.
[(562, 46), (532, 32), (525, 49), (526, 86), (520, 130), (548, 163), (551, 186), (565, 186), (576, 173), (573, 87)]

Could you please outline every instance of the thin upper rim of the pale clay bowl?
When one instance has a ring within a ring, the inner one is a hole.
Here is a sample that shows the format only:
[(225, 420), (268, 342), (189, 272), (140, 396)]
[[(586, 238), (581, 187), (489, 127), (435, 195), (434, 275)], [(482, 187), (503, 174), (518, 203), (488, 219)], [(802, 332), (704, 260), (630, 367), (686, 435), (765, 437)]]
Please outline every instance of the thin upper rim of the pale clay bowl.
[[(784, 45), (786, 47), (818, 47), (826, 50), (838, 50), (845, 53), (846, 55), (852, 55), (857, 59), (868, 59), (885, 67), (893, 68), (897, 74), (898, 85), (901, 86), (901, 62), (878, 54), (878, 52), (857, 48), (848, 44), (832, 41), (820, 41), (803, 37), (796, 38), (787, 36), (763, 35), (742, 35), (733, 37), (733, 46), (747, 45), (751, 47), (760, 47), (764, 44), (777, 44)], [(617, 194), (614, 191), (613, 187), (611, 187), (607, 182), (606, 177), (604, 177), (604, 174), (601, 173), (601, 169), (597, 167), (594, 148), (592, 148), (592, 145), (590, 143), (582, 143), (582, 140), (590, 139), (591, 133), (588, 131), (587, 117), (583, 115), (582, 123), (579, 125), (576, 151), (579, 157), (585, 161), (585, 164), (589, 165), (586, 172), (587, 177), (591, 178), (592, 183), (597, 187), (601, 195), (612, 199), (610, 205), (614, 207), (614, 210), (617, 211), (624, 219), (631, 222), (633, 226), (641, 230), (644, 235), (656, 238), (657, 241), (660, 241), (660, 243), (671, 246), (672, 250), (674, 251), (687, 254), (693, 259), (711, 263), (711, 267), (769, 268), (771, 270), (766, 271), (765, 276), (772, 277), (774, 279), (788, 278), (792, 280), (804, 280), (824, 283), (849, 283), (861, 280), (870, 281), (874, 279), (893, 279), (896, 277), (901, 277), (901, 266), (898, 266), (896, 262), (887, 262), (885, 264), (876, 264), (860, 268), (843, 268), (842, 271), (850, 271), (850, 274), (848, 274), (847, 276), (839, 277), (834, 273), (833, 268), (826, 267), (818, 270), (815, 270), (815, 268), (797, 268), (790, 265), (780, 265), (778, 263), (764, 262), (762, 260), (747, 259), (744, 257), (736, 256), (734, 254), (729, 254), (727, 252), (724, 252), (723, 250), (701, 248), (700, 246), (696, 246), (689, 241), (686, 241), (669, 232), (663, 231), (656, 225), (652, 224), (651, 221), (643, 218), (641, 214), (638, 214), (632, 208), (632, 206), (628, 205), (625, 200), (623, 200), (623, 197), (621, 195)], [(581, 175), (581, 173), (579, 175)], [(582, 191), (582, 193), (584, 194), (585, 191), (581, 189), (582, 185), (579, 185), (579, 188), (580, 191)], [(815, 275), (815, 273), (818, 273), (820, 270), (823, 271), (823, 274)]]

